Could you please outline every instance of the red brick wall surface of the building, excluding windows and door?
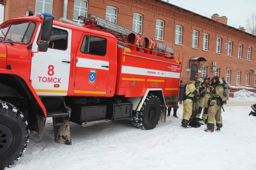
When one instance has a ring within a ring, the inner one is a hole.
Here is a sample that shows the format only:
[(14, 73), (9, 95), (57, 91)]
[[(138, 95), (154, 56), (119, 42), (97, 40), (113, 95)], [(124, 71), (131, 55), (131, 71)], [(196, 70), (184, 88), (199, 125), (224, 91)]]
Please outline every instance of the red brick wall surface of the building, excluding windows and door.
[[(216, 67), (220, 68), (220, 78), (224, 77), (226, 79), (226, 71), (227, 68), (229, 68), (231, 70), (231, 85), (236, 85), (237, 69), (242, 70), (240, 76), (240, 85), (242, 86), (245, 86), (246, 70), (256, 70), (256, 38), (245, 32), (235, 30), (230, 26), (223, 26), (204, 16), (194, 15), (187, 10), (180, 10), (172, 5), (155, 0), (88, 0), (88, 14), (93, 13), (105, 18), (106, 6), (113, 6), (118, 9), (117, 24), (128, 29), (132, 29), (133, 13), (140, 13), (143, 16), (142, 35), (149, 38), (155, 37), (156, 19), (163, 20), (164, 41), (158, 42), (173, 48), (177, 55), (179, 55), (180, 52), (184, 54), (181, 75), (181, 79), (184, 83), (190, 80), (190, 71), (186, 71), (186, 68), (189, 68), (190, 59), (194, 57), (204, 57), (207, 60), (204, 65), (207, 66), (206, 74), (210, 77), (214, 76), (214, 71), (210, 71), (211, 62), (216, 62)], [(74, 0), (69, 0), (67, 18), (70, 20), (73, 19), (73, 7)], [(27, 9), (35, 12), (35, 0), (20, 0), (19, 3), (10, 0), (9, 18), (21, 16), (20, 13), (23, 15)], [(56, 20), (62, 17), (62, 11), (63, 0), (53, 0), (52, 14), (56, 17)], [(174, 43), (176, 25), (183, 27), (182, 46)], [(199, 33), (198, 49), (192, 48), (192, 33), (194, 29)], [(208, 51), (202, 49), (204, 33), (209, 34)], [(222, 38), (221, 54), (216, 54), (217, 37)], [(233, 57), (228, 56), (228, 49), (224, 48), (225, 43), (228, 43), (228, 41), (233, 42)], [(243, 44), (242, 59), (238, 59), (239, 44)], [(252, 61), (247, 61), (248, 47), (252, 47)], [(203, 62), (200, 62), (200, 66), (201, 63)], [(196, 64), (198, 64), (198, 62), (196, 62)], [(254, 76), (254, 74), (250, 74), (250, 87), (254, 87)], [(201, 73), (198, 73), (198, 78), (200, 77)]]

